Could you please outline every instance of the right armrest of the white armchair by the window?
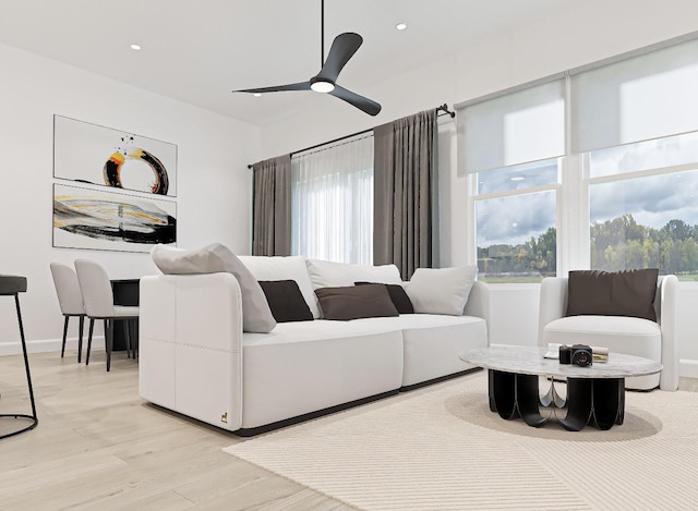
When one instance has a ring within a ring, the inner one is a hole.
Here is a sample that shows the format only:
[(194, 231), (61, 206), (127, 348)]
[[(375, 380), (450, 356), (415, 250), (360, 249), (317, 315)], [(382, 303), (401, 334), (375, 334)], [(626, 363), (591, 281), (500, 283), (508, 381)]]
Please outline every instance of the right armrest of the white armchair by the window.
[(676, 339), (676, 305), (678, 296), (678, 279), (673, 275), (665, 276), (660, 282), (660, 317), (662, 329), (662, 373), (659, 387), (662, 390), (678, 388), (678, 345)]

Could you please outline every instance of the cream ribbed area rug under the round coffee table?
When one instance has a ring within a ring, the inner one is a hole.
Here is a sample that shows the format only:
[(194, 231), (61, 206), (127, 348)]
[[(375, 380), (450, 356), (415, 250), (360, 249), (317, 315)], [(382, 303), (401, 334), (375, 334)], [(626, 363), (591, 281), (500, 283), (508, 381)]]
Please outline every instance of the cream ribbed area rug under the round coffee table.
[(698, 509), (698, 393), (681, 390), (627, 392), (623, 425), (571, 433), (500, 418), (480, 372), (225, 451), (365, 510)]

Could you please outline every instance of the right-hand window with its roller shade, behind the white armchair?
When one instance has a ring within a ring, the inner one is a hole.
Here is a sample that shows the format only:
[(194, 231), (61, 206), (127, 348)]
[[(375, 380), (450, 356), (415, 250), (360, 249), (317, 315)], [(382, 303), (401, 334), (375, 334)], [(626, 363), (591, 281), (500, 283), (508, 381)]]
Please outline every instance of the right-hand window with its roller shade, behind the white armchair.
[(590, 266), (698, 278), (698, 40), (571, 76)]

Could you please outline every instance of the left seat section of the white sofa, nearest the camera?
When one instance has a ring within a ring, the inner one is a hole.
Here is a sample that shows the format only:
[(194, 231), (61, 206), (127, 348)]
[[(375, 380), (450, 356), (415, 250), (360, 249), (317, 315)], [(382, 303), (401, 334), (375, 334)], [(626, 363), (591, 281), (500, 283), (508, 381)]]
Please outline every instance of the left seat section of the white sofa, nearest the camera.
[(270, 333), (244, 333), (242, 427), (399, 389), (400, 331), (362, 321), (282, 323)]

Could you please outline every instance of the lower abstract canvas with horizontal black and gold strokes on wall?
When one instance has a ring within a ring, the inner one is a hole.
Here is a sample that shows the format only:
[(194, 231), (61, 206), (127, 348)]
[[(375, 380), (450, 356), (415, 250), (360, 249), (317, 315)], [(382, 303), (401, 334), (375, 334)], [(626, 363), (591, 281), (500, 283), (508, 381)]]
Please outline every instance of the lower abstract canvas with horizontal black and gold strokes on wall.
[(177, 203), (53, 184), (53, 246), (149, 252), (177, 243)]

